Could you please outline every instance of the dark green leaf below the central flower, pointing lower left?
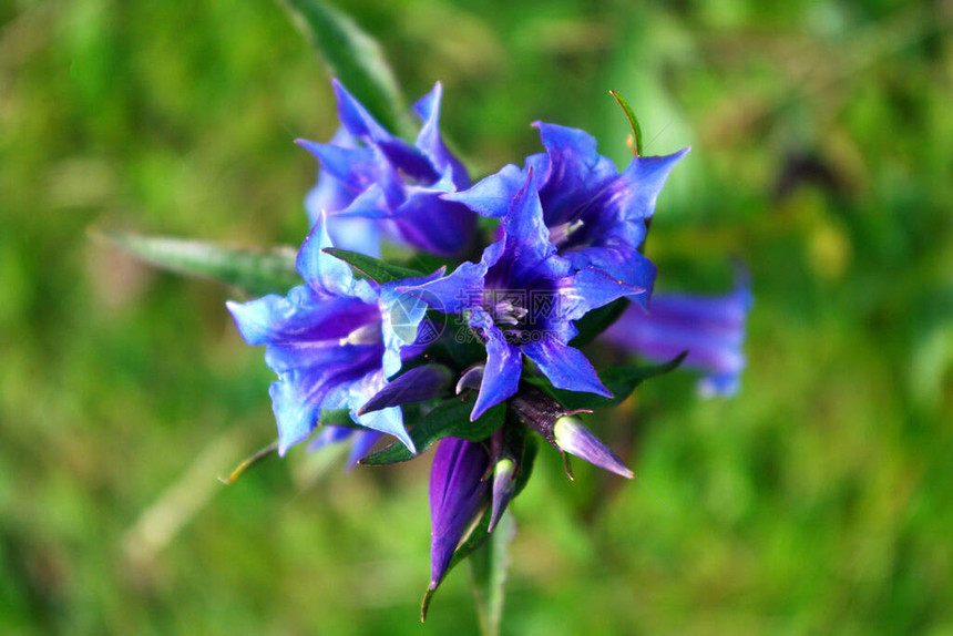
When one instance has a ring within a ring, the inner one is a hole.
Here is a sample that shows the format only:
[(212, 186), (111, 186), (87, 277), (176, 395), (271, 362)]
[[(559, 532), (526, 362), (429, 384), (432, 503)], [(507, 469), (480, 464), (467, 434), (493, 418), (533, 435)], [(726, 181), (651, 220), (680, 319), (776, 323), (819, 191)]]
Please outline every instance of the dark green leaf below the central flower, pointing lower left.
[[(496, 404), (475, 422), (470, 421), (470, 411), (472, 410), (472, 399), (452, 398), (438, 404), (410, 431), (410, 439), (413, 440), (417, 452), (422, 453), (443, 438), (461, 438), (472, 442), (486, 439), (503, 423), (506, 406)], [(386, 449), (363, 458), (360, 463), (383, 465), (406, 462), (414, 457), (417, 455), (407, 450), (402, 443), (394, 442)]]

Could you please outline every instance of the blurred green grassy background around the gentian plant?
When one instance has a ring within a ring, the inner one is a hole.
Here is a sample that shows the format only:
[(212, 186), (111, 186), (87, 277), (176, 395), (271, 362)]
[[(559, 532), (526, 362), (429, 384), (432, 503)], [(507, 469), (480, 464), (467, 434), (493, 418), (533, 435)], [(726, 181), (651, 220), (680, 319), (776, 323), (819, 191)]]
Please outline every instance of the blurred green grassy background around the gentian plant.
[[(659, 289), (754, 276), (741, 393), (688, 373), (554, 452), (514, 504), (506, 634), (953, 634), (950, 2), (358, 0), (404, 94), (445, 86), (475, 174), (540, 119), (622, 163), (691, 145)], [(275, 435), (262, 350), (212, 283), (88, 235), (297, 244), (328, 76), (270, 0), (0, 1), (0, 633), (474, 634), (465, 568), (426, 627), (429, 459), (345, 474)], [(545, 451), (545, 450), (544, 450)]]

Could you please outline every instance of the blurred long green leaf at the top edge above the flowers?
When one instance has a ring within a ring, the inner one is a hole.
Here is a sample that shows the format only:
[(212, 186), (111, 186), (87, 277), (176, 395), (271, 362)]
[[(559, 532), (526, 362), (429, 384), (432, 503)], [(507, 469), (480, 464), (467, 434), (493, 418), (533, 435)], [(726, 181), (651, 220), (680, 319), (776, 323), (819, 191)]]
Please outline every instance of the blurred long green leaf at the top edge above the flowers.
[(411, 135), (400, 89), (380, 45), (346, 13), (321, 0), (281, 0), (321, 53), (328, 72), (388, 130)]

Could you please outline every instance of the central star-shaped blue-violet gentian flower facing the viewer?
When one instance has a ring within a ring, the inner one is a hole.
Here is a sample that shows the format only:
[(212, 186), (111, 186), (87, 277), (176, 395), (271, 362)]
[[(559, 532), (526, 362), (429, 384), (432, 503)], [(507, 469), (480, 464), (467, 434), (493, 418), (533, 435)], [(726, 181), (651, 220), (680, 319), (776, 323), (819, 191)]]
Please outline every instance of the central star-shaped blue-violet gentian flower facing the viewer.
[(645, 291), (601, 269), (575, 271), (556, 254), (543, 224), (540, 195), (531, 187), (532, 172), (510, 202), (502, 238), (486, 247), (480, 263), (464, 263), (444, 278), (398, 288), (440, 311), (465, 312), (485, 342), (474, 420), (516, 391), (522, 353), (556, 388), (611, 396), (585, 356), (568, 346), (577, 334), (573, 320), (616, 298)]

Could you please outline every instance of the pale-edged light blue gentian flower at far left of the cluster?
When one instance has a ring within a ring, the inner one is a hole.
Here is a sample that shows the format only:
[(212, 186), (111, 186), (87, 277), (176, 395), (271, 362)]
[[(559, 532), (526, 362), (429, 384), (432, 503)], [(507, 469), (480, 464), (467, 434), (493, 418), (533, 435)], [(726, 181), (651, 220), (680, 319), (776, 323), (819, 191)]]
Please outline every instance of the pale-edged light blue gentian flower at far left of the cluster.
[[(270, 389), (278, 452), (284, 454), (305, 440), (322, 409), (348, 409), (355, 422), (393, 435), (414, 450), (399, 402), (372, 412), (361, 409), (387, 388), (402, 359), (422, 350), (414, 338), (401, 336), (414, 334), (426, 307), (403, 305), (398, 334), (390, 321), (390, 309), (400, 297), (394, 286), (356, 279), (350, 266), (322, 252), (330, 246), (326, 224), (319, 220), (298, 253), (297, 269), (305, 285), (287, 296), (227, 302), (238, 331), (249, 345), (266, 346), (265, 362), (279, 376)], [(316, 443), (336, 441), (342, 434), (326, 432)], [(372, 437), (365, 435), (358, 445), (369, 448), (376, 441)]]

